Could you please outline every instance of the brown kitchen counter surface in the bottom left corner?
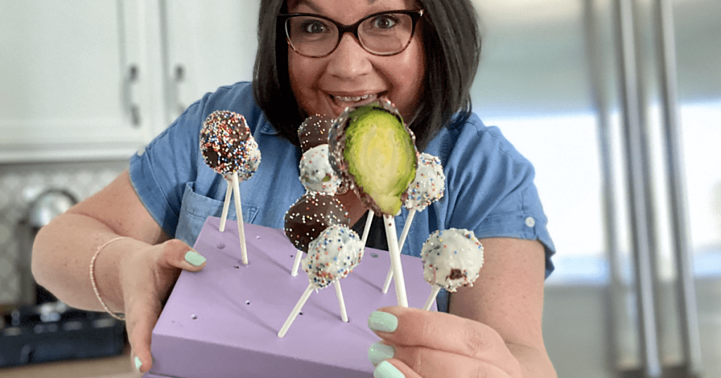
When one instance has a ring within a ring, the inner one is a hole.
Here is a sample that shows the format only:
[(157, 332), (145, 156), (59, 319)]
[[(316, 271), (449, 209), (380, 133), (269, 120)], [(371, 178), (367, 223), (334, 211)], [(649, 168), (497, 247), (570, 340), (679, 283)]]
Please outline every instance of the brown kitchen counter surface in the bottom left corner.
[(123, 354), (99, 359), (30, 364), (0, 369), (0, 378), (140, 378), (131, 367), (131, 348)]

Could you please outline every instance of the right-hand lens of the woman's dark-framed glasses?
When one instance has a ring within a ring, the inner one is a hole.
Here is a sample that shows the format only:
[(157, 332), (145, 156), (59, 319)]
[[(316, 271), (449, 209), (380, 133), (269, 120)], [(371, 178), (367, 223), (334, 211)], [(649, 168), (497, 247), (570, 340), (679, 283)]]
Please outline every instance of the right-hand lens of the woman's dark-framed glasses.
[(361, 44), (371, 53), (390, 55), (404, 50), (413, 35), (413, 19), (404, 13), (384, 13), (358, 27)]

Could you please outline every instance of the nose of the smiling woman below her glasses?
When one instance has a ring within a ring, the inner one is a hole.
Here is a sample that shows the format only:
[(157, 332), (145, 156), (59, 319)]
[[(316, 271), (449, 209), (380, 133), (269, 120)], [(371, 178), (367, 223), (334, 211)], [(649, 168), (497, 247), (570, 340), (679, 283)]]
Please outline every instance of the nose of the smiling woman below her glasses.
[(353, 34), (345, 33), (335, 51), (328, 55), (327, 72), (344, 80), (363, 76), (373, 70), (373, 64), (369, 60), (371, 56), (371, 53), (363, 50)]

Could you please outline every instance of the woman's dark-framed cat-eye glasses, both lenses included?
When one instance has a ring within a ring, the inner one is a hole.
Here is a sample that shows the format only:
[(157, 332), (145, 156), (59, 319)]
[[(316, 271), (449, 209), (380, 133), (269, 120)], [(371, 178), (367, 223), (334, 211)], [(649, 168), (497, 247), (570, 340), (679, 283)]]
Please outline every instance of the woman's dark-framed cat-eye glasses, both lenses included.
[(319, 14), (279, 14), (285, 22), (288, 45), (309, 58), (330, 55), (345, 33), (352, 33), (361, 47), (373, 55), (396, 55), (410, 45), (420, 11), (390, 11), (370, 14), (352, 25), (344, 25)]

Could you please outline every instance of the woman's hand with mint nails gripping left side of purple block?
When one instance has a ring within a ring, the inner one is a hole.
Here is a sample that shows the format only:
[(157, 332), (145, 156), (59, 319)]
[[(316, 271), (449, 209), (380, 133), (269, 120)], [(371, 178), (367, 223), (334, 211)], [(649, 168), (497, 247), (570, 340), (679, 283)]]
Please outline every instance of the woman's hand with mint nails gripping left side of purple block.
[(133, 368), (144, 373), (153, 364), (151, 333), (180, 271), (200, 271), (205, 264), (203, 256), (177, 239), (130, 252), (120, 261), (120, 287)]

